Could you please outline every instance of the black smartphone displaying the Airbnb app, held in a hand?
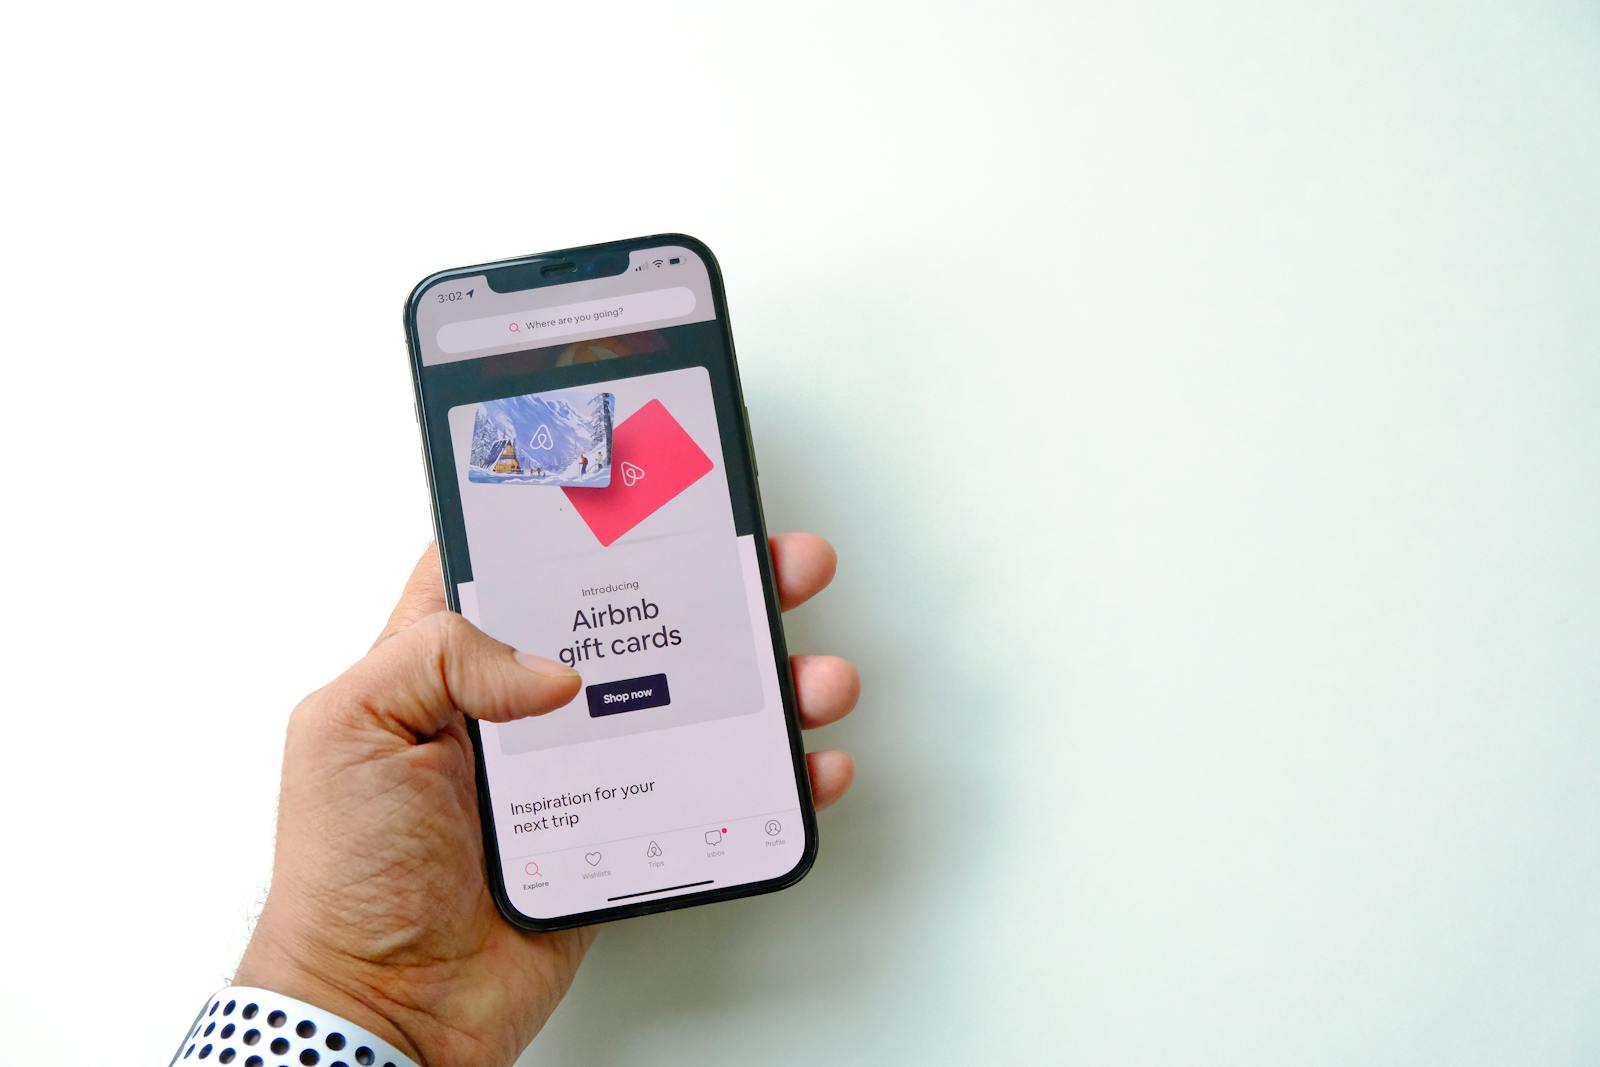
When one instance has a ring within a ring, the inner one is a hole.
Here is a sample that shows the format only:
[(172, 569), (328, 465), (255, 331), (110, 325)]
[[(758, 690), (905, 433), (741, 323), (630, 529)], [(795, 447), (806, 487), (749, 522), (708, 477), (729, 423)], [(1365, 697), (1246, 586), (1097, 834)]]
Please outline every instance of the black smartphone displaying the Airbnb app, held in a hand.
[(405, 325), (451, 609), (584, 680), (469, 721), (501, 910), (562, 929), (798, 881), (816, 816), (710, 250), (443, 270)]

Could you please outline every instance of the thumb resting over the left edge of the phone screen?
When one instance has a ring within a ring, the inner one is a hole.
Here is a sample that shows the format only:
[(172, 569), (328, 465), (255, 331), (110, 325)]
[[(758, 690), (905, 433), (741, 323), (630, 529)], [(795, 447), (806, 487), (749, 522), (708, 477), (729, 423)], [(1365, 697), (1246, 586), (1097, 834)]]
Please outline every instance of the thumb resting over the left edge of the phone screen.
[(334, 683), (350, 705), (414, 737), (458, 715), (504, 723), (554, 712), (581, 686), (571, 667), (518, 653), (453, 611), (392, 635)]

